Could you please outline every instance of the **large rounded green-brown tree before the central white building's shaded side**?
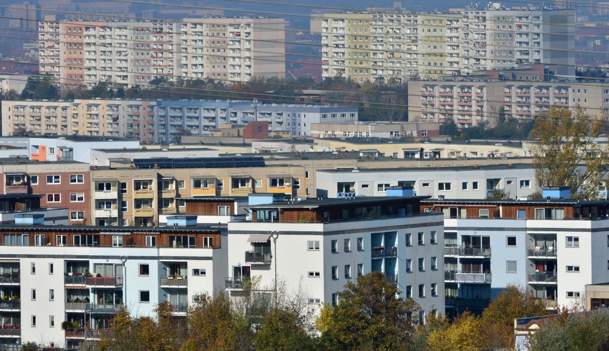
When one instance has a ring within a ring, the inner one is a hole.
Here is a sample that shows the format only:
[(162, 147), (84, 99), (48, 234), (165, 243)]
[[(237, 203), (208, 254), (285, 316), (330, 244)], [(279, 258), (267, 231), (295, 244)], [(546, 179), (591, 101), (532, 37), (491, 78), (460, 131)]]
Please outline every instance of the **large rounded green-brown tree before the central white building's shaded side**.
[(414, 316), (418, 304), (400, 297), (398, 287), (381, 272), (357, 277), (347, 282), (339, 293), (340, 303), (323, 312), (326, 331), (322, 340), (336, 340), (325, 345), (332, 349), (405, 349), (415, 331)]

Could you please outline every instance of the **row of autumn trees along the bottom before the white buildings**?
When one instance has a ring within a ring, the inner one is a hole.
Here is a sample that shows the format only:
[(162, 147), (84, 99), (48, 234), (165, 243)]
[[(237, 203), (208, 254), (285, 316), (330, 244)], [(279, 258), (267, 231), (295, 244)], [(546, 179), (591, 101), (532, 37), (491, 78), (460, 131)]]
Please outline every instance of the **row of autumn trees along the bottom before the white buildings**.
[[(172, 316), (167, 303), (157, 306), (154, 318), (122, 310), (100, 341), (88, 341), (82, 349), (511, 350), (514, 319), (546, 315), (545, 304), (530, 290), (509, 287), (480, 317), (466, 312), (449, 321), (429, 313), (426, 324), (418, 325), (417, 303), (400, 297), (398, 287), (378, 272), (348, 282), (339, 293), (339, 304), (324, 305), (317, 318), (305, 293), (289, 294), (279, 288), (275, 301), (268, 293), (272, 290), (263, 290), (252, 282), (239, 299), (203, 296), (185, 318)], [(589, 330), (590, 337), (584, 337), (582, 330)], [(607, 313), (578, 315), (561, 310), (543, 322), (530, 349), (606, 350), (608, 342)]]

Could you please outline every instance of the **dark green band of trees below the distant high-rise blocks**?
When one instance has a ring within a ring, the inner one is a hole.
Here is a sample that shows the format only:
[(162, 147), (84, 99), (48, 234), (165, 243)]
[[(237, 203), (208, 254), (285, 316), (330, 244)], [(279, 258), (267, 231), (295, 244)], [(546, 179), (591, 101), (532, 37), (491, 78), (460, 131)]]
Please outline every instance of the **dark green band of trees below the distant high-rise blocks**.
[[(324, 94), (305, 97), (306, 89), (323, 89)], [(360, 120), (407, 120), (407, 85), (389, 82), (373, 84), (356, 82), (350, 78), (334, 77), (315, 80), (311, 77), (253, 78), (250, 82), (222, 82), (211, 79), (182, 79), (156, 77), (149, 86), (125, 86), (99, 82), (92, 88), (82, 85), (62, 86), (51, 78), (30, 76), (19, 96), (11, 99), (164, 99), (164, 100), (253, 100), (261, 103), (306, 103), (346, 105), (359, 108)]]

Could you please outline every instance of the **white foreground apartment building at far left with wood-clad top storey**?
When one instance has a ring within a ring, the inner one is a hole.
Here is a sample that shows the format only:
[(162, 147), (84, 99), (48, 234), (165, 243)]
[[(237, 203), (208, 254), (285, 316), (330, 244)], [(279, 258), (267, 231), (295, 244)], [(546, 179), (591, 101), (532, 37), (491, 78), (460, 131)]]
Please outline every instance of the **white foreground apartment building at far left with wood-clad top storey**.
[[(186, 218), (170, 222), (164, 228), (2, 226), (2, 347), (36, 342), (73, 349), (99, 339), (119, 308), (146, 316), (167, 301), (179, 318), (200, 294), (222, 291), (225, 235), (187, 226)], [(72, 327), (63, 330), (63, 321)]]

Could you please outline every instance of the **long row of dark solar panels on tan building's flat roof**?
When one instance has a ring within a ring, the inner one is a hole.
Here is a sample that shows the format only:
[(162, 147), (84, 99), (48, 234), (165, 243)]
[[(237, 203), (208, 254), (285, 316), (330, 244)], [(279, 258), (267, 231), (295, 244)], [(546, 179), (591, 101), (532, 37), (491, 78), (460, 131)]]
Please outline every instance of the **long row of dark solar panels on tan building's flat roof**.
[(133, 164), (139, 169), (173, 168), (236, 168), (264, 167), (264, 158), (260, 156), (217, 157), (217, 158), (138, 158)]

